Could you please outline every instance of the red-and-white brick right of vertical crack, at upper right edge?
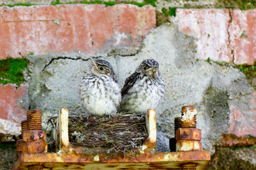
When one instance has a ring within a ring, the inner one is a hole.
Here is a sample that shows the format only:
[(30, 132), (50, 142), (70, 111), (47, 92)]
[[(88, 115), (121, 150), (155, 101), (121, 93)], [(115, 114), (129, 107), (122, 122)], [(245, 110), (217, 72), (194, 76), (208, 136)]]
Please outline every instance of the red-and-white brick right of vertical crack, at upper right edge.
[(256, 61), (256, 9), (233, 10), (229, 32), (235, 64), (254, 64)]

